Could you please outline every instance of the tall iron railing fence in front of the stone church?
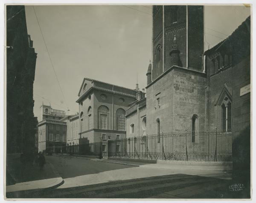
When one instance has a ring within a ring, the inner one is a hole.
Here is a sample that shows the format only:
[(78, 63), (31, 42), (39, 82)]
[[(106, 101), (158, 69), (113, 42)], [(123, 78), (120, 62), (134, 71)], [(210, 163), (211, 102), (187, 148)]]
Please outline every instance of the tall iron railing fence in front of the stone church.
[(108, 141), (108, 157), (231, 161), (231, 132), (174, 132)]

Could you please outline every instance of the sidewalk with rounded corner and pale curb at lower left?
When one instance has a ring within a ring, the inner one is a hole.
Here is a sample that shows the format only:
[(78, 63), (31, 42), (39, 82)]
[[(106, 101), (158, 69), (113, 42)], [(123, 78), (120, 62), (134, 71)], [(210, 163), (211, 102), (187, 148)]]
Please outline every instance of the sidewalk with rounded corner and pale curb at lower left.
[(22, 194), (52, 189), (64, 183), (52, 163), (47, 162), (40, 171), (35, 163), (22, 165), (19, 160), (12, 160), (12, 166), (18, 167), (16, 172), (11, 171), (15, 184), (6, 186), (6, 198), (22, 198)]

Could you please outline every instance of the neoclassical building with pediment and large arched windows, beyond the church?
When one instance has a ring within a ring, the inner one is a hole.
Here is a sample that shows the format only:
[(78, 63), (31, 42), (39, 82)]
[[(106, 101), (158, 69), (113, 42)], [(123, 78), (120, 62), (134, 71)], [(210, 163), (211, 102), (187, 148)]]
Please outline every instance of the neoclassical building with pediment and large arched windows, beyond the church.
[[(78, 94), (79, 138), (90, 143), (126, 137), (126, 109), (137, 90), (84, 78)], [(140, 92), (141, 95), (145, 95)], [(103, 146), (103, 151), (107, 146)]]

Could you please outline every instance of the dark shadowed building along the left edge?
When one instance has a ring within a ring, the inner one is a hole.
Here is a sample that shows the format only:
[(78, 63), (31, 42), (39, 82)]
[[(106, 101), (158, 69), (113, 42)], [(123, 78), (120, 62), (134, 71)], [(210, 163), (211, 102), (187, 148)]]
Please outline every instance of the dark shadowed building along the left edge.
[(6, 152), (35, 151), (33, 83), (37, 54), (27, 33), (25, 6), (6, 6)]

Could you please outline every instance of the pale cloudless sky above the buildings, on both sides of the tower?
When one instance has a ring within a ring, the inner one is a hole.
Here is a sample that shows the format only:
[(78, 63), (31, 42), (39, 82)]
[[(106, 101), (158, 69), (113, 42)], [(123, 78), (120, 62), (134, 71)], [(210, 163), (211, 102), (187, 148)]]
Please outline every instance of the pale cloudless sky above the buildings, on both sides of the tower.
[[(28, 34), (38, 54), (33, 90), (36, 117), (43, 101), (67, 114), (78, 112), (76, 100), (84, 77), (131, 89), (135, 89), (138, 77), (140, 89), (145, 88), (151, 60), (151, 6), (34, 6), (34, 9), (25, 6)], [(205, 6), (204, 12), (207, 50), (226, 39), (250, 15), (250, 8)]]

